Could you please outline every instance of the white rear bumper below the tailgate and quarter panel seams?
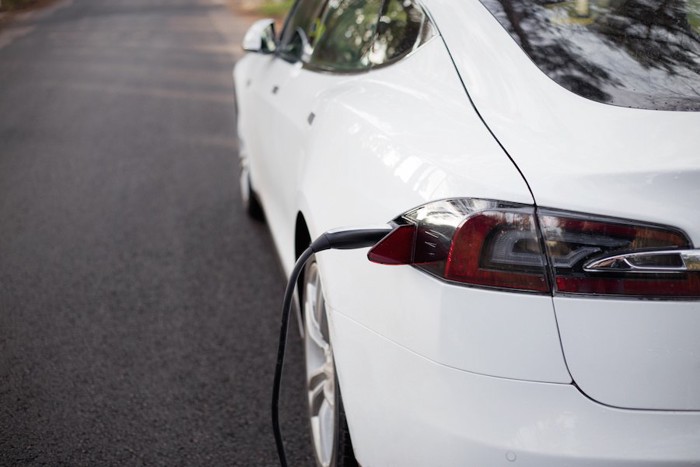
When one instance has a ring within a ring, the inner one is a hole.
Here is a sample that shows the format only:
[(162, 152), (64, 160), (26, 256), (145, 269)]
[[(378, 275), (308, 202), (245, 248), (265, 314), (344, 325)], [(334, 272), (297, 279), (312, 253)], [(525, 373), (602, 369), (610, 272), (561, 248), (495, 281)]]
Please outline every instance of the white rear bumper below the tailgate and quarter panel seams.
[(362, 465), (698, 465), (700, 414), (613, 409), (571, 385), (454, 370), (332, 316), (338, 377)]

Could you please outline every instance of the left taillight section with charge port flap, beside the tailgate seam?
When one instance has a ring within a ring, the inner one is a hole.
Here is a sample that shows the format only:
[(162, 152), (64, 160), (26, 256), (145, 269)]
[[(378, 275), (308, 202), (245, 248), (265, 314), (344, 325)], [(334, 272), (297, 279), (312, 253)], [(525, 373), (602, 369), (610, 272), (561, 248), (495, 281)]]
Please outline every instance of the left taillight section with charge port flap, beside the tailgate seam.
[(414, 264), (443, 279), (482, 287), (549, 292), (534, 209), (495, 201), (431, 203), (395, 222), (369, 253), (383, 264)]

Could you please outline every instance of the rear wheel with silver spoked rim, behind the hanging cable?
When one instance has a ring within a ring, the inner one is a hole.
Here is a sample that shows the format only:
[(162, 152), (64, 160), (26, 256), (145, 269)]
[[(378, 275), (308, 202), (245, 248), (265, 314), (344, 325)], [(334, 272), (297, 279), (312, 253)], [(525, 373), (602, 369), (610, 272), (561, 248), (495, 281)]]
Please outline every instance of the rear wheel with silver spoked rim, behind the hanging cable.
[(323, 467), (356, 466), (335, 371), (323, 288), (315, 260), (303, 282), (304, 350), (311, 437)]

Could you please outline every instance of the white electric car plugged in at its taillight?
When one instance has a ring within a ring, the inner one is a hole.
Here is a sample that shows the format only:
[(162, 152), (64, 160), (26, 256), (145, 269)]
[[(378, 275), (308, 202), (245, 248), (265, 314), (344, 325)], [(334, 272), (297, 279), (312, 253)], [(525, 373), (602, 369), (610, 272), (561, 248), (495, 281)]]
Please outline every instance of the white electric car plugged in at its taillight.
[[(234, 71), (319, 465), (700, 465), (700, 1), (298, 0)], [(342, 395), (342, 399), (341, 399)]]

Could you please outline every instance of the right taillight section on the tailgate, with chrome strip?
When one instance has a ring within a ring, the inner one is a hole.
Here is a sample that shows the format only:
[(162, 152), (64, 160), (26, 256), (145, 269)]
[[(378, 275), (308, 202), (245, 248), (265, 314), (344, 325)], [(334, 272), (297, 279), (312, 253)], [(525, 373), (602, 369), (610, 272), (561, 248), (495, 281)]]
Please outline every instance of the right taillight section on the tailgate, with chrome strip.
[(700, 296), (700, 275), (682, 257), (692, 248), (682, 232), (546, 210), (540, 211), (539, 220), (555, 292)]

